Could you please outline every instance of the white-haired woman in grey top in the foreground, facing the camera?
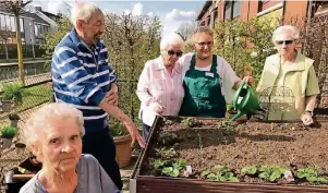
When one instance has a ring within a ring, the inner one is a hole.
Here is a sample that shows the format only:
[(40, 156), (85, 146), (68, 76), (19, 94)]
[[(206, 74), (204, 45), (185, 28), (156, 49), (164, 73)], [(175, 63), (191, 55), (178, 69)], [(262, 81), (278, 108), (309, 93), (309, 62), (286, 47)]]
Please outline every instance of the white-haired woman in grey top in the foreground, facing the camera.
[(82, 112), (65, 104), (50, 104), (32, 114), (23, 129), (27, 147), (42, 169), (20, 193), (112, 193), (109, 176), (92, 155), (82, 155)]

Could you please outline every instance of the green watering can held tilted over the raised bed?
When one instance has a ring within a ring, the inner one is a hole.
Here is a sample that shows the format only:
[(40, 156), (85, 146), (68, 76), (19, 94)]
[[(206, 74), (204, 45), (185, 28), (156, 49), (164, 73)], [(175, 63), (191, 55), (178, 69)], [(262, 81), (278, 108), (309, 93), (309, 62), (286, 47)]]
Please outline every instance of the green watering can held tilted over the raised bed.
[(259, 107), (256, 93), (244, 81), (233, 97), (232, 106), (238, 110), (238, 113), (232, 117), (231, 121), (236, 120), (243, 114), (246, 114), (247, 119), (251, 119), (252, 114), (265, 112), (265, 110)]

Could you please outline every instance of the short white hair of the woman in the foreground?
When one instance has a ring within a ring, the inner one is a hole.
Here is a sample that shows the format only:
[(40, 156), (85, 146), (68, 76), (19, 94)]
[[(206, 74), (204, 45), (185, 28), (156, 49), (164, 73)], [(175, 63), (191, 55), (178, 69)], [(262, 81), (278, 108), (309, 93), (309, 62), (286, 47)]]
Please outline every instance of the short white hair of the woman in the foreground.
[(83, 114), (80, 110), (64, 102), (48, 104), (33, 112), (22, 129), (23, 140), (29, 149), (40, 140), (45, 128), (52, 126), (49, 120), (53, 119), (75, 121), (81, 137), (85, 134)]

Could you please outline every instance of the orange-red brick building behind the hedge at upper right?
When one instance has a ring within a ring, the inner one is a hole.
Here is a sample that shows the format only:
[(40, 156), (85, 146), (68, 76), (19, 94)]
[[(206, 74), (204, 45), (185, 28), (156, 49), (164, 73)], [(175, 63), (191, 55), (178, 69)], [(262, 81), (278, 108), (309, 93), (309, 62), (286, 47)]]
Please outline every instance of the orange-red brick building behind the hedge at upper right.
[(206, 1), (198, 13), (198, 25), (214, 27), (218, 21), (242, 20), (252, 17), (280, 16), (309, 19), (328, 14), (328, 1), (295, 1), (295, 0), (214, 0)]

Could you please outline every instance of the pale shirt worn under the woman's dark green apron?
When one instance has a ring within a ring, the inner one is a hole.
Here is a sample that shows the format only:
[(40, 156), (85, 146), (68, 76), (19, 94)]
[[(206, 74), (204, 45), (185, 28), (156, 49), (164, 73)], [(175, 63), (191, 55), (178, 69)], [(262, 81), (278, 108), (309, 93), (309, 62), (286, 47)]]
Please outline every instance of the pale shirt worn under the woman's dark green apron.
[[(193, 52), (190, 52), (183, 55), (179, 59), (179, 63), (182, 65), (182, 76), (184, 76), (186, 71), (190, 69), (193, 55)], [(224, 96), (226, 101), (229, 104), (232, 101), (232, 97), (235, 93), (235, 91), (232, 87), (241, 79), (235, 75), (231, 65), (223, 58), (217, 56), (217, 73), (220, 75), (221, 93)], [(206, 68), (195, 67), (195, 69), (199, 71), (209, 71), (210, 67), (211, 64), (209, 63)]]

